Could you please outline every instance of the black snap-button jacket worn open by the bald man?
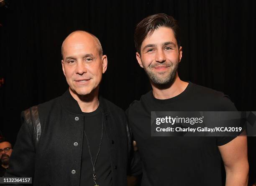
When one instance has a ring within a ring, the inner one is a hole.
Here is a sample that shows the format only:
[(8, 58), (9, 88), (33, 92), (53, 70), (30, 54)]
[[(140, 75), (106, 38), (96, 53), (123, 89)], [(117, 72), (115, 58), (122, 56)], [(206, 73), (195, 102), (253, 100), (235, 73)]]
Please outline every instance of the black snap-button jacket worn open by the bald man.
[[(100, 98), (100, 104), (110, 146), (113, 186), (125, 186), (132, 145), (126, 116), (104, 98)], [(39, 133), (36, 145), (33, 135), (37, 131), (30, 128), (26, 114), (22, 112), (23, 125), (5, 176), (32, 177), (35, 186), (79, 186), (84, 117), (69, 90), (38, 105), (41, 136)]]

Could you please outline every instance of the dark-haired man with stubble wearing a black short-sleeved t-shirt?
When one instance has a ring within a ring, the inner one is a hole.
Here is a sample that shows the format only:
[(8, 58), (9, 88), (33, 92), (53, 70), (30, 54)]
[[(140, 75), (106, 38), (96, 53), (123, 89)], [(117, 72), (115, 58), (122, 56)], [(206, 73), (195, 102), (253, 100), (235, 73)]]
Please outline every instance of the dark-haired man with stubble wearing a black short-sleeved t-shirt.
[(236, 111), (223, 93), (179, 78), (179, 35), (177, 21), (166, 14), (143, 19), (134, 34), (138, 64), (153, 89), (127, 110), (143, 161), (142, 186), (220, 186), (221, 158), (226, 186), (246, 186), (246, 136), (151, 136), (151, 111)]

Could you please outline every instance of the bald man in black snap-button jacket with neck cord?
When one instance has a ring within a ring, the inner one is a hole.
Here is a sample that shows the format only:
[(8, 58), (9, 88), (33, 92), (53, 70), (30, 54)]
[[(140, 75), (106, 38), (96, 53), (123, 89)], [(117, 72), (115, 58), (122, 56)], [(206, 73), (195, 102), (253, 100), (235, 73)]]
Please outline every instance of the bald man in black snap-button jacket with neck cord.
[(22, 112), (5, 176), (32, 177), (36, 186), (125, 186), (131, 135), (125, 113), (99, 97), (108, 66), (100, 41), (75, 31), (64, 40), (61, 53), (69, 88)]

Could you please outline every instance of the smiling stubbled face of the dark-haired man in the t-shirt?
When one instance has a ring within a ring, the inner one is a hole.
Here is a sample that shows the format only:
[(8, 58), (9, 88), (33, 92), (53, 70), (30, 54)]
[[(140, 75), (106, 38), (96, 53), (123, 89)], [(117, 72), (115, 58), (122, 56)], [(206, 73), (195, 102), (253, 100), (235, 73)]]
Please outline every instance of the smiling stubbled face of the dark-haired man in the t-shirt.
[(182, 58), (182, 47), (171, 28), (159, 27), (141, 43), (141, 54), (136, 53), (139, 65), (156, 85), (172, 83)]

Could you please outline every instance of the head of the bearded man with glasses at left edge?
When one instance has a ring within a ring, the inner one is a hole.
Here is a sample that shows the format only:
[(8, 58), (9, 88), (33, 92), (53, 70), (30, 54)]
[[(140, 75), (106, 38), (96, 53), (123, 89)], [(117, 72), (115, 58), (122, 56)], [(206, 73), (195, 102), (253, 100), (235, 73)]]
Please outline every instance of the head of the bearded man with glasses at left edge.
[(11, 143), (5, 138), (1, 138), (0, 139), (0, 160), (1, 160), (0, 177), (4, 176), (5, 171), (9, 167), (9, 160), (12, 152), (13, 152), (13, 148)]

